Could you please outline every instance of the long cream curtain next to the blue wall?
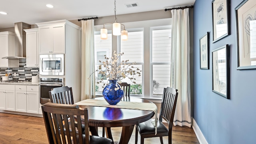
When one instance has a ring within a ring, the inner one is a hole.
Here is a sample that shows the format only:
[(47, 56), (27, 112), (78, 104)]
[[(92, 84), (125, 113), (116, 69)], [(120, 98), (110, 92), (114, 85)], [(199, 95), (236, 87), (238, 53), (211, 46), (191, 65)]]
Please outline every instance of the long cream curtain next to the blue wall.
[(172, 56), (171, 87), (178, 90), (174, 115), (174, 126), (191, 127), (190, 104), (190, 42), (189, 8), (171, 10), (172, 13)]

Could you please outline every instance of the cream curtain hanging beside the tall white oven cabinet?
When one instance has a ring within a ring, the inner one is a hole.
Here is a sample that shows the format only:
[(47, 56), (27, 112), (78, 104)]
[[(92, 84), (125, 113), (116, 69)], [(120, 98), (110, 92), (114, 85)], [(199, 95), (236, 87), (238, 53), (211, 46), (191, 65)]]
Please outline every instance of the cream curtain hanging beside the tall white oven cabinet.
[[(95, 75), (92, 74), (94, 72), (94, 20), (82, 20), (81, 22), (81, 100), (85, 100), (95, 95)], [(76, 73), (74, 72), (74, 74)], [(92, 76), (90, 77), (91, 74)]]

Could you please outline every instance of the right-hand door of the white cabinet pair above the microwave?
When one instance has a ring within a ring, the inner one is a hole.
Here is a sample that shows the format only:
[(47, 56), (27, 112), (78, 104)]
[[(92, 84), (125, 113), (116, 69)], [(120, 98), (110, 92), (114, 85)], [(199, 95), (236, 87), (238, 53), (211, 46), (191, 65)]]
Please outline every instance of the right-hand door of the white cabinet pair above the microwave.
[(52, 27), (53, 54), (65, 54), (65, 24)]

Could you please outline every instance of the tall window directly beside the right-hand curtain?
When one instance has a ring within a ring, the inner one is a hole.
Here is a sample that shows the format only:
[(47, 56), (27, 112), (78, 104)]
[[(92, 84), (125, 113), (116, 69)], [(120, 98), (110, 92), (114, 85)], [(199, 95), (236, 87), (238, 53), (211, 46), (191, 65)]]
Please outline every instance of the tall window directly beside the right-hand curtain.
[(151, 95), (162, 96), (170, 86), (171, 27), (150, 28), (151, 35)]

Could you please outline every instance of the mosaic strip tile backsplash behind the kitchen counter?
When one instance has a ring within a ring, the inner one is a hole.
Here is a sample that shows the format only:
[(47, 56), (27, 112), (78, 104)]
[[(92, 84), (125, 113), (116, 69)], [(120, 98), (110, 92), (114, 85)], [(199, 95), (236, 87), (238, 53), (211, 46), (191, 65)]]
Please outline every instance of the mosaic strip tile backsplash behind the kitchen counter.
[(39, 74), (39, 68), (27, 68), (26, 60), (19, 60), (19, 68), (0, 68), (0, 80), (5, 74), (10, 74), (9, 80), (32, 80), (32, 76)]

